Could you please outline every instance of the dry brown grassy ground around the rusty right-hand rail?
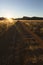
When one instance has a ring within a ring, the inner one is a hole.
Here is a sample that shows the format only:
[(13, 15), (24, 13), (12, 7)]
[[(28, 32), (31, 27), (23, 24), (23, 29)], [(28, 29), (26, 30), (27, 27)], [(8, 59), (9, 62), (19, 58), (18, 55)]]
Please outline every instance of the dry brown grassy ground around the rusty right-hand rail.
[(43, 65), (43, 48), (24, 23), (43, 40), (43, 20), (0, 20), (0, 65)]

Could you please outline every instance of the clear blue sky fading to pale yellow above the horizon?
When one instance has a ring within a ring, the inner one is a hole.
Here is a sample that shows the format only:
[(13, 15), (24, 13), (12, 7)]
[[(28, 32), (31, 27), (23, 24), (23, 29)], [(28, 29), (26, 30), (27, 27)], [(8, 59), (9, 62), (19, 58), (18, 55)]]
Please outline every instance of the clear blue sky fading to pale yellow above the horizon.
[(0, 17), (43, 17), (43, 0), (0, 0)]

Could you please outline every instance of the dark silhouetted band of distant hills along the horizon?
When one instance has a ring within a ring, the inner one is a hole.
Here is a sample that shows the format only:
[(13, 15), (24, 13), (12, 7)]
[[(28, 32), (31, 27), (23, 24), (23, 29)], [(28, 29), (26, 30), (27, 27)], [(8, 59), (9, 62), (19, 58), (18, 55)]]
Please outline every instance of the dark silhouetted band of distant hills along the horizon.
[[(7, 18), (4, 17), (0, 17), (0, 20), (5, 20)], [(11, 18), (12, 20), (43, 20), (43, 17), (27, 17), (27, 16), (23, 16), (22, 18)]]

